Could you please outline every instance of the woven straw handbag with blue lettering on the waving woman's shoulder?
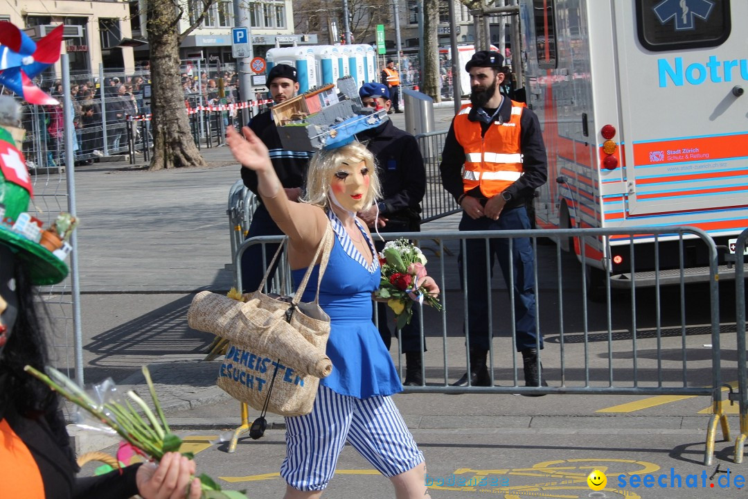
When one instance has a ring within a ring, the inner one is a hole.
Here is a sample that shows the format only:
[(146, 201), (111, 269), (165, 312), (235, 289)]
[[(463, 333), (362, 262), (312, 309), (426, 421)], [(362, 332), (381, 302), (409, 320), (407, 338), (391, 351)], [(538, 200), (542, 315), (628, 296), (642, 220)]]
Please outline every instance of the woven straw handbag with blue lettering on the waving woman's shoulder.
[[(319, 378), (332, 372), (330, 358), (325, 355), (330, 317), (319, 307), (319, 284), (330, 259), (334, 237), (328, 225), (292, 297), (275, 297), (262, 292), (268, 271), (260, 288), (245, 295), (245, 303), (209, 292), (198, 293), (192, 301), (187, 314), (190, 327), (229, 340), (218, 373), (218, 386), (231, 397), (262, 411), (261, 417), (266, 411), (282, 416), (309, 414)], [(268, 269), (272, 269), (281, 248)], [(301, 303), (320, 254), (314, 301)]]

